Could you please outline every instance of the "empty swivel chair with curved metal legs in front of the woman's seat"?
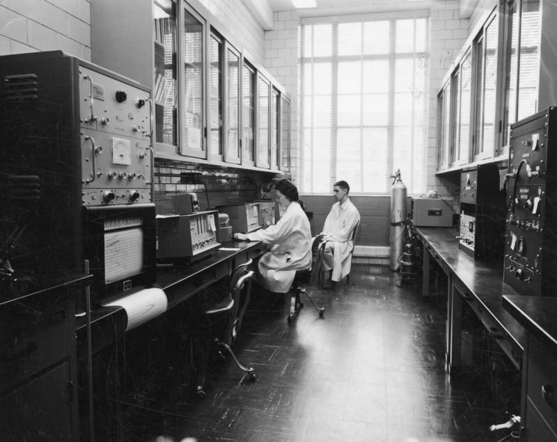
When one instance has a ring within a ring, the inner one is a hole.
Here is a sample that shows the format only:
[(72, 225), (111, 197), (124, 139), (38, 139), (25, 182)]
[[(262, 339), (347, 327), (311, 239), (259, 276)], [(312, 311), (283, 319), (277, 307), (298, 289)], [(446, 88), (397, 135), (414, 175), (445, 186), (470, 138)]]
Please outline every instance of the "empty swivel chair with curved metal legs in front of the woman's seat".
[(218, 351), (219, 355), (223, 357), (220, 352), (221, 348), (226, 349), (230, 356), (232, 356), (237, 367), (246, 372), (251, 381), (256, 379), (255, 370), (253, 370), (253, 368), (244, 367), (244, 365), (238, 361), (233, 350), (230, 348), (230, 345), (232, 345), (233, 340), (236, 337), (236, 326), (238, 322), (237, 306), (240, 303), (240, 294), (244, 285), (246, 286), (247, 297), (249, 297), (249, 291), (251, 290), (251, 277), (253, 276), (253, 271), (248, 271), (249, 265), (251, 265), (251, 260), (236, 267), (233, 274), (230, 276), (228, 285), (226, 286), (226, 296), (221, 297), (217, 303), (211, 306), (211, 308), (206, 310), (204, 313), (204, 330), (210, 329), (212, 331), (215, 328), (218, 329), (218, 327), (215, 327), (215, 324), (223, 321), (223, 319), (228, 319), (228, 324), (222, 340), (217, 336), (214, 336), (213, 333), (205, 335), (206, 340), (204, 340), (203, 355), (201, 357), (201, 366), (199, 369), (197, 383), (197, 395), (201, 398), (205, 397), (203, 386), (205, 385), (205, 375), (207, 373), (207, 359), (210, 352), (214, 351)]

